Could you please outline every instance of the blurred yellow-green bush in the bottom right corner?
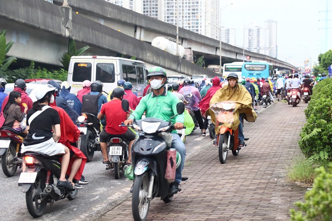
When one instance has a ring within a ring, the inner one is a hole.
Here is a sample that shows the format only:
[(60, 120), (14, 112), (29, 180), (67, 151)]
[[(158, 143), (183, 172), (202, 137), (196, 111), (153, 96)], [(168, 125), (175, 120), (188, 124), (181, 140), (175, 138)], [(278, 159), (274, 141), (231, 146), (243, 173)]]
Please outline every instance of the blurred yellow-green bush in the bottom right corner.
[(311, 190), (305, 193), (305, 202), (296, 202), (298, 210), (290, 209), (291, 220), (332, 220), (332, 163), (328, 170), (319, 167)]

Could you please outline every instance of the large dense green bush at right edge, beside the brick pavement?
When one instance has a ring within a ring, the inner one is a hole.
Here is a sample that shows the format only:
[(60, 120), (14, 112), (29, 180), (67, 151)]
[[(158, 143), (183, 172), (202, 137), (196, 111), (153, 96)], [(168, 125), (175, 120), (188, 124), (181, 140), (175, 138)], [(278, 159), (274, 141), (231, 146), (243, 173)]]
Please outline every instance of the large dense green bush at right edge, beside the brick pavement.
[(332, 79), (317, 83), (304, 113), (306, 124), (300, 133), (302, 153), (313, 163), (327, 166), (332, 158)]

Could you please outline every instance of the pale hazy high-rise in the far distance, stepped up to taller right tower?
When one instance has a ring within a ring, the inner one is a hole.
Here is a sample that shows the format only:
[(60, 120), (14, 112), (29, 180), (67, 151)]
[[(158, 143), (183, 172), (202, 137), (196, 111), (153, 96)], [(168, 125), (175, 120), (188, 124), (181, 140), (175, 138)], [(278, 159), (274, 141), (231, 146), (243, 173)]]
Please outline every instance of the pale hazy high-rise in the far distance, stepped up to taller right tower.
[(267, 27), (245, 28), (244, 49), (271, 57), (277, 57), (277, 22), (267, 21)]

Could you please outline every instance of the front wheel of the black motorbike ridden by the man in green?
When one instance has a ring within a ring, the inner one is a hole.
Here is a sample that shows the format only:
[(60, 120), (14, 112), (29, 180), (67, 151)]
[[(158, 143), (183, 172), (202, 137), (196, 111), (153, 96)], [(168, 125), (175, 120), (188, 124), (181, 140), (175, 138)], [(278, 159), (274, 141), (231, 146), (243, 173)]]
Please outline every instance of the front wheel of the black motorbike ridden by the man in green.
[(149, 179), (147, 172), (135, 177), (131, 199), (132, 213), (135, 221), (146, 220), (149, 212), (150, 201), (147, 199)]

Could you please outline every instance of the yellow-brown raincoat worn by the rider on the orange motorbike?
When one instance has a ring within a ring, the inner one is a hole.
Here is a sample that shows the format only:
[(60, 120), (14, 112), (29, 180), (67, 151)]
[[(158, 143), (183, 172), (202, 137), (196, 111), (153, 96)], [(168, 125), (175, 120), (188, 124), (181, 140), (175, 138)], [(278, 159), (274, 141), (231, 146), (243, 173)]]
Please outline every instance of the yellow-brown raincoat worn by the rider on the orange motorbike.
[[(236, 130), (238, 125), (240, 124), (239, 115), (244, 113), (243, 117), (247, 122), (255, 122), (257, 118), (257, 114), (255, 113), (252, 107), (252, 96), (247, 91), (245, 87), (239, 86), (236, 83), (234, 89), (232, 89), (229, 85), (225, 85), (212, 96), (210, 100), (210, 105), (213, 103), (217, 103), (224, 100), (231, 100), (235, 103), (235, 111), (234, 111), (234, 123), (233, 124), (225, 124), (224, 126), (231, 128), (232, 130)], [(208, 109), (211, 121), (215, 124), (216, 116)], [(216, 127), (216, 133), (219, 132), (220, 126)]]

